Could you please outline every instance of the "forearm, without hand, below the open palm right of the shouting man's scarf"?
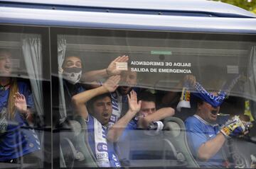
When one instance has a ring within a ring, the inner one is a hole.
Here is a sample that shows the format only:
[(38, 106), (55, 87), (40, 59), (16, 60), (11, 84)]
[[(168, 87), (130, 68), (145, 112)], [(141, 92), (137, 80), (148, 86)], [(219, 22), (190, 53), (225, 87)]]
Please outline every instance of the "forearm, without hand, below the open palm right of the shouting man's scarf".
[(117, 142), (119, 136), (122, 135), (122, 132), (135, 114), (136, 113), (132, 112), (131, 110), (128, 110), (128, 112), (120, 120), (118, 120), (116, 124), (110, 127), (110, 130), (107, 133), (107, 139), (111, 142)]

